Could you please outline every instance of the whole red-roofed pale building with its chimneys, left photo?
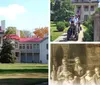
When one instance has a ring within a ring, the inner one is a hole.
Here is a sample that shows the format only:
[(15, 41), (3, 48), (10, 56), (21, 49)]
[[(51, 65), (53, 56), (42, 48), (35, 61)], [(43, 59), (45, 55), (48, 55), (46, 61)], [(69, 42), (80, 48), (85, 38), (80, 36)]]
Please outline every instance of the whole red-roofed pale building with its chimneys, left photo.
[[(1, 21), (0, 27), (0, 48), (3, 44), (5, 21)], [(6, 35), (15, 44), (17, 63), (48, 63), (48, 37), (45, 38), (21, 38), (20, 31), (16, 34)]]

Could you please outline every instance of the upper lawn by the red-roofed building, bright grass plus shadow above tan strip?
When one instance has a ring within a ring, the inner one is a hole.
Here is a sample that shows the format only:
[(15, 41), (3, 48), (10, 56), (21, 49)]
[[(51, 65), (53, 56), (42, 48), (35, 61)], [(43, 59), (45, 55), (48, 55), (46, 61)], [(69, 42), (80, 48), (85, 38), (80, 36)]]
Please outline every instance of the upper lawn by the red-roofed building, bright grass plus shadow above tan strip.
[(8, 73), (48, 73), (47, 64), (0, 64), (0, 74)]

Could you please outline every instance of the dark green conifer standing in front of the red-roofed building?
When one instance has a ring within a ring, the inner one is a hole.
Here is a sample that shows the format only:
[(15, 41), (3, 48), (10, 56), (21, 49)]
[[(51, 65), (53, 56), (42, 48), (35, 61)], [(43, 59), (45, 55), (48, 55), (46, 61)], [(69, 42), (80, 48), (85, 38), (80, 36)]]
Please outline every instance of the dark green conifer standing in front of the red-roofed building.
[(0, 53), (0, 62), (1, 63), (14, 63), (16, 60), (16, 56), (12, 52), (14, 49), (11, 40), (4, 39), (2, 50)]

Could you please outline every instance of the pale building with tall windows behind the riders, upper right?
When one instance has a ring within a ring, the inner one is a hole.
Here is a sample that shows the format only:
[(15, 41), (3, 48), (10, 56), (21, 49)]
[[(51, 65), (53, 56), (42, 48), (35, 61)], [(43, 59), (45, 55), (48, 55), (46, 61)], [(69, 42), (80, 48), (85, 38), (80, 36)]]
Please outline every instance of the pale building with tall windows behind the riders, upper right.
[(81, 21), (87, 20), (98, 8), (98, 0), (72, 0), (72, 3)]

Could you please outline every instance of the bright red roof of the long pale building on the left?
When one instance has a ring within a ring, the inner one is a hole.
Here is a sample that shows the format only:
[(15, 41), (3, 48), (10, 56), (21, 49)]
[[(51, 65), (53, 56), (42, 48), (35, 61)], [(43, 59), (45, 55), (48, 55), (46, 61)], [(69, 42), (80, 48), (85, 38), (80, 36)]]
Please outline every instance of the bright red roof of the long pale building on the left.
[(20, 42), (40, 42), (43, 40), (43, 38), (20, 38), (18, 35), (16, 34), (9, 34), (4, 36), (5, 38), (10, 38), (10, 39), (15, 39), (15, 40), (19, 40)]

